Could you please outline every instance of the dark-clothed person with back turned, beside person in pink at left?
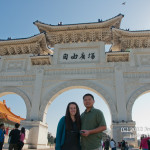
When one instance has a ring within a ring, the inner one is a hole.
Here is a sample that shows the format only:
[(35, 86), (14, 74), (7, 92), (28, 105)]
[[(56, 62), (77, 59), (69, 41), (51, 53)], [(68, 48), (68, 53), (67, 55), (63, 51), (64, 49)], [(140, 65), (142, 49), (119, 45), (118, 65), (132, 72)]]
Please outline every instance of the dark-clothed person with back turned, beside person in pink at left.
[(20, 140), (20, 130), (18, 130), (20, 124), (15, 124), (15, 129), (11, 130), (9, 133), (10, 144), (9, 144), (9, 150), (18, 150), (18, 142)]

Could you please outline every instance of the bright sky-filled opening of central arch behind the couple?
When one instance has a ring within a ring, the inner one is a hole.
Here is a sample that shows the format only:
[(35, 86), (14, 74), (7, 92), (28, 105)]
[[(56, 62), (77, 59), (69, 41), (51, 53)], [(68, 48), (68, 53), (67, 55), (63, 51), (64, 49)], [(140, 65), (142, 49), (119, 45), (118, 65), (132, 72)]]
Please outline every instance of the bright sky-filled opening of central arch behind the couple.
[(111, 125), (111, 111), (107, 101), (104, 97), (97, 91), (87, 88), (87, 87), (69, 87), (59, 91), (55, 94), (52, 99), (50, 99), (47, 105), (47, 116), (46, 122), (48, 124), (48, 132), (55, 137), (57, 124), (61, 117), (65, 115), (66, 108), (69, 102), (76, 102), (80, 109), (80, 114), (85, 111), (85, 106), (83, 104), (83, 95), (90, 93), (94, 96), (95, 104), (94, 107), (100, 109), (105, 117), (107, 124), (106, 133), (110, 135), (110, 125)]

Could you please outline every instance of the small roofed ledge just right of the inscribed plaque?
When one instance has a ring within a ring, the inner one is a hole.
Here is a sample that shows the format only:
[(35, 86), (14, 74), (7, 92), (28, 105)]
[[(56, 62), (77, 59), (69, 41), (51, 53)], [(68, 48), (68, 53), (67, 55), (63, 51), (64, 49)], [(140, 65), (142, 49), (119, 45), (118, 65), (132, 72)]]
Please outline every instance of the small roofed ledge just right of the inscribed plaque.
[(107, 62), (128, 62), (129, 52), (106, 53)]

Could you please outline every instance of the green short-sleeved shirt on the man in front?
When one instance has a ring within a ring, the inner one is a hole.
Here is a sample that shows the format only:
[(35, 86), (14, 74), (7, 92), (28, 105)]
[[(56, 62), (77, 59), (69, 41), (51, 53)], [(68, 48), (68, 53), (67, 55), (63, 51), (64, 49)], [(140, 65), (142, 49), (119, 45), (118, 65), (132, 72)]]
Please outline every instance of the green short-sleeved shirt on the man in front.
[[(89, 111), (86, 110), (81, 115), (81, 130), (92, 130), (100, 126), (106, 126), (105, 118), (102, 111), (94, 107)], [(81, 136), (82, 150), (92, 150), (101, 146), (102, 133), (91, 134), (87, 137)]]

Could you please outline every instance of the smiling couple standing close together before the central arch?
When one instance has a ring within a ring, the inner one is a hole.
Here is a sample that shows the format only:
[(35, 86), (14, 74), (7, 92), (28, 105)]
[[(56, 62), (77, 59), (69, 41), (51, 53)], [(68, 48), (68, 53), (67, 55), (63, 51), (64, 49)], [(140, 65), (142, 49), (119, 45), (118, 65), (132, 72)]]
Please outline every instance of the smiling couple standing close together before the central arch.
[(81, 116), (75, 102), (68, 104), (66, 115), (57, 126), (55, 150), (101, 150), (102, 131), (106, 130), (106, 122), (103, 113), (93, 107), (94, 102), (93, 95), (83, 96), (86, 110)]

